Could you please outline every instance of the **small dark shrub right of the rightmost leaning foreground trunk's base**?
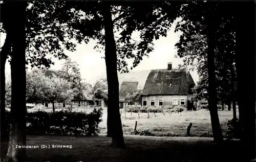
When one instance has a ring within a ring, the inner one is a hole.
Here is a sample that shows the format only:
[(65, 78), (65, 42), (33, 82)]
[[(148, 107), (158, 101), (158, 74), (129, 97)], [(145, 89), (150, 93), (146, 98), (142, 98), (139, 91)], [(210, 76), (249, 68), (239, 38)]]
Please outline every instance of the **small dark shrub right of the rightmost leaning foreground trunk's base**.
[(239, 119), (232, 119), (232, 120), (228, 120), (227, 122), (227, 126), (228, 126), (228, 132), (227, 132), (227, 136), (229, 138), (241, 138), (241, 125), (239, 122)]

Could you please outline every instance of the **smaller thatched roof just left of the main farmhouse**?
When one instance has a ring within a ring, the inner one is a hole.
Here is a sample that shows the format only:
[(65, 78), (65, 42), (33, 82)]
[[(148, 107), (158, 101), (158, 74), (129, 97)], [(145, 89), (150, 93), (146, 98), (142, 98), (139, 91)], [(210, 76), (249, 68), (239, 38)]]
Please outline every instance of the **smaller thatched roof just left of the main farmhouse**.
[(137, 91), (139, 82), (123, 81), (119, 89), (119, 101), (123, 102), (128, 94)]

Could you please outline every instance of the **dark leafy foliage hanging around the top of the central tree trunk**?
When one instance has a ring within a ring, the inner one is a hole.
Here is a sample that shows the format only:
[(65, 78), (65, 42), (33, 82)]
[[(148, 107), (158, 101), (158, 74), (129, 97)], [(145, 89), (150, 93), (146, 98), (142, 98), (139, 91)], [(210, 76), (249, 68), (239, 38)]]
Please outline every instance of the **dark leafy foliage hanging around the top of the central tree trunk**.
[[(182, 3), (168, 2), (112, 2), (114, 34), (116, 35), (117, 66), (121, 73), (129, 72), (136, 67), (143, 57), (154, 50), (153, 40), (165, 36), (170, 24), (176, 19)], [(140, 5), (144, 6), (141, 10)], [(60, 16), (59, 21), (66, 21), (76, 30), (78, 41), (96, 40), (95, 50), (104, 51), (103, 2), (66, 2), (63, 8), (74, 12), (75, 16)], [(168, 9), (161, 11), (162, 8)], [(170, 12), (172, 10), (172, 12)], [(138, 32), (138, 39), (132, 35)], [(125, 59), (133, 59), (133, 65), (127, 67)]]

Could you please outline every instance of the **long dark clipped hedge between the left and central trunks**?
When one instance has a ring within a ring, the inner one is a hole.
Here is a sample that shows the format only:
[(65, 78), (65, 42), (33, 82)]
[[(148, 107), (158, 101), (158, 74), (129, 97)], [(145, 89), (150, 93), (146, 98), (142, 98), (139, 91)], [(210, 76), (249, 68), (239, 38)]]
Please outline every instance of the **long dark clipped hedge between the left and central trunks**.
[[(71, 111), (28, 112), (27, 135), (95, 135), (99, 133), (102, 109), (90, 113)], [(10, 128), (10, 111), (6, 111), (6, 122)], [(8, 130), (9, 131), (9, 130)]]

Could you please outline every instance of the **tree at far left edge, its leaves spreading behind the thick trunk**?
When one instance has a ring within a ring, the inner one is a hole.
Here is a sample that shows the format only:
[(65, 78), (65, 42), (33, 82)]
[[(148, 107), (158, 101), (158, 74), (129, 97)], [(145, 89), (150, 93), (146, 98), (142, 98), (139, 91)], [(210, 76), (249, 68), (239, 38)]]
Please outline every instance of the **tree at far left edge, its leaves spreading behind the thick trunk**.
[[(73, 19), (74, 13), (70, 10), (60, 13), (65, 3), (63, 2), (43, 2), (43, 1), (31, 1), (26, 9), (27, 21), (26, 21), (26, 64), (30, 64), (32, 67), (45, 67), (49, 68), (54, 64), (51, 58), (47, 58), (46, 54), (50, 54), (58, 59), (67, 58), (67, 55), (63, 53), (64, 49), (74, 51), (76, 43), (72, 42), (73, 38), (77, 37), (77, 33), (73, 28), (69, 28), (63, 21), (58, 21), (59, 17), (65, 17)], [(12, 32), (11, 29), (14, 26), (12, 19), (9, 15), (12, 12), (12, 3), (4, 1), (0, 5), (0, 32), (6, 33), (6, 40), (1, 50), (1, 123), (5, 123), (5, 63), (9, 56), (9, 62), (11, 61), (12, 51)], [(15, 37), (15, 36), (14, 36)], [(75, 39), (77, 40), (77, 39)], [(78, 39), (78, 43), (81, 40)], [(4, 140), (4, 134), (6, 132), (6, 125), (1, 127), (1, 140)], [(5, 135), (7, 136), (7, 135)], [(8, 137), (8, 136), (7, 136)]]

